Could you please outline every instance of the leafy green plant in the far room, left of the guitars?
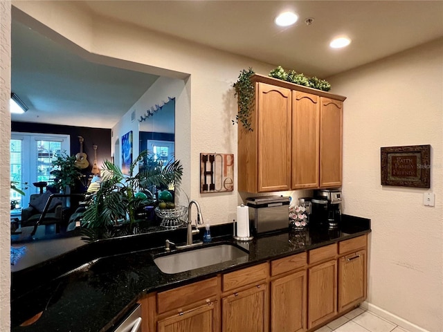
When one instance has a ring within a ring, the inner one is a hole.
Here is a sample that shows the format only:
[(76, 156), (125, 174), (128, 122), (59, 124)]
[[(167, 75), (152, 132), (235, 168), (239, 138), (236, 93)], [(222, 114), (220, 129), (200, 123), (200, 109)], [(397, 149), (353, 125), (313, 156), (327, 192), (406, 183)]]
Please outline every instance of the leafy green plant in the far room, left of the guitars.
[(66, 152), (57, 154), (53, 160), (51, 175), (55, 176), (54, 187), (57, 190), (65, 190), (66, 186), (74, 187), (75, 181), (81, 178), (82, 172), (75, 166), (75, 156), (68, 156)]

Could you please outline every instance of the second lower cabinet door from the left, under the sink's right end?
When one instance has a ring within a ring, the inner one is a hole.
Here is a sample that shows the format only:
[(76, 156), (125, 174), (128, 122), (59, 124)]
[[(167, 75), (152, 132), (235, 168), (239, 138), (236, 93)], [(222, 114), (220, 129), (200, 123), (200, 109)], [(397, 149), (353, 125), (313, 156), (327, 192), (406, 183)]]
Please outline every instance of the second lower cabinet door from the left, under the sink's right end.
[(266, 284), (224, 297), (221, 309), (221, 331), (268, 331), (269, 307), (267, 301)]

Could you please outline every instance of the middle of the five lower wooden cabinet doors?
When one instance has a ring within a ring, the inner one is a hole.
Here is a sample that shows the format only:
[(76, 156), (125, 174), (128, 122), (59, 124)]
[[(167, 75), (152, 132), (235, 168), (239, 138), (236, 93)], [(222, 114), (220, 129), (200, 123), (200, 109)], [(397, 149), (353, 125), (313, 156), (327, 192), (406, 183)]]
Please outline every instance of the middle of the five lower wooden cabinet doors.
[(306, 271), (271, 282), (271, 332), (306, 331)]

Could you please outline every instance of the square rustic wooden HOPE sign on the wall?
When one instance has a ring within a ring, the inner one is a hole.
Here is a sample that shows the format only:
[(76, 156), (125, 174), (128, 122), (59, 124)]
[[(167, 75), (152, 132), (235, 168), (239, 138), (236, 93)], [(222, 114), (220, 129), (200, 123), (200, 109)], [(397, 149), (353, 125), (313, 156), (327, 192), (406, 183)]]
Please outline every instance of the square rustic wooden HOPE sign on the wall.
[(200, 154), (200, 192), (234, 190), (234, 155)]

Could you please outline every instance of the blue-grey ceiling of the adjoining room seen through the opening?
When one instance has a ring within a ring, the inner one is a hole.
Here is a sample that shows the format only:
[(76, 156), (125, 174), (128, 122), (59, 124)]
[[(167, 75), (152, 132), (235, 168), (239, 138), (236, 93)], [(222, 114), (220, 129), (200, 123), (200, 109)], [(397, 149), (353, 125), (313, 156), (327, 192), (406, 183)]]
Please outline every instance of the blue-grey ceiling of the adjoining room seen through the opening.
[(29, 108), (13, 121), (112, 128), (158, 78), (89, 62), (12, 21), (11, 90)]

